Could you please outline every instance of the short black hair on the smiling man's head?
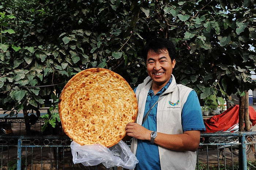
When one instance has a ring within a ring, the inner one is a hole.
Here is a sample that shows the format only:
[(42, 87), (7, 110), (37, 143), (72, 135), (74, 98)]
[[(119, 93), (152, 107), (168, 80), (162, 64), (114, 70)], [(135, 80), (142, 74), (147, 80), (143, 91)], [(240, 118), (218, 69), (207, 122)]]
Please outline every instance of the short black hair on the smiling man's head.
[(144, 61), (147, 63), (147, 53), (149, 50), (153, 50), (153, 52), (160, 54), (162, 53), (163, 49), (168, 51), (172, 61), (176, 58), (176, 50), (174, 44), (168, 39), (164, 38), (155, 38), (151, 41), (148, 41), (146, 45), (142, 48), (142, 57), (144, 58)]

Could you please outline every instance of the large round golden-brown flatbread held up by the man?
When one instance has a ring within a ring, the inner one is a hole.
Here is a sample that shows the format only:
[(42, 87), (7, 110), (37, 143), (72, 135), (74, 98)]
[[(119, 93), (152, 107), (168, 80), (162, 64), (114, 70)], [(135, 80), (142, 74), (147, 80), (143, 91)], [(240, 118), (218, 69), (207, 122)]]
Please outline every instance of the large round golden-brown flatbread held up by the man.
[(125, 136), (134, 122), (138, 103), (132, 88), (117, 73), (90, 68), (77, 73), (60, 95), (63, 131), (80, 145), (111, 147)]

